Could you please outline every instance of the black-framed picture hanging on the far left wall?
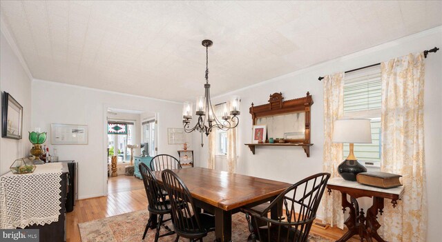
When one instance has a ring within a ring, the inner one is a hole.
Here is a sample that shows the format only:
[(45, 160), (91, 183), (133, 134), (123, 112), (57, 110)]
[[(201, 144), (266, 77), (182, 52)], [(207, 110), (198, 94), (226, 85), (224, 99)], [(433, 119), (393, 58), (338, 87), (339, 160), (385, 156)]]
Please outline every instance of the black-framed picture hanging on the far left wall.
[(21, 139), (23, 134), (23, 106), (8, 92), (1, 102), (1, 137)]

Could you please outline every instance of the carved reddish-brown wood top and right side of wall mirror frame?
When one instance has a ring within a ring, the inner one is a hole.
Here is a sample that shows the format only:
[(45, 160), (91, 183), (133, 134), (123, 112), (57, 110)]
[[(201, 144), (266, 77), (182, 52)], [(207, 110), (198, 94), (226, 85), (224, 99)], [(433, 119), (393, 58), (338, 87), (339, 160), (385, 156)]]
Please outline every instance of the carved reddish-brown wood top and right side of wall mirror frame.
[(270, 95), (269, 103), (264, 105), (253, 105), (249, 108), (253, 125), (261, 117), (269, 117), (280, 114), (290, 114), (294, 112), (305, 112), (305, 139), (287, 139), (286, 143), (310, 143), (310, 107), (313, 104), (311, 95), (307, 92), (305, 97), (283, 101), (281, 92)]

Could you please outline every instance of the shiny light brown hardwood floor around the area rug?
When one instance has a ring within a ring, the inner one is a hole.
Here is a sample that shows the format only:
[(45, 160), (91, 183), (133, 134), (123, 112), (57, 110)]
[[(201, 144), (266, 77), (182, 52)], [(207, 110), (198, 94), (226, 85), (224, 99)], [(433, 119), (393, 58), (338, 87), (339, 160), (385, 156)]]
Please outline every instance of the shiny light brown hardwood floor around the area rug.
[[(142, 180), (127, 176), (109, 177), (108, 196), (77, 201), (74, 211), (66, 214), (66, 241), (81, 241), (78, 230), (79, 223), (146, 208), (147, 199)], [(338, 228), (328, 228), (327, 230), (311, 228), (311, 233), (334, 240), (339, 239), (346, 231)], [(353, 236), (349, 241), (358, 242), (360, 239)]]

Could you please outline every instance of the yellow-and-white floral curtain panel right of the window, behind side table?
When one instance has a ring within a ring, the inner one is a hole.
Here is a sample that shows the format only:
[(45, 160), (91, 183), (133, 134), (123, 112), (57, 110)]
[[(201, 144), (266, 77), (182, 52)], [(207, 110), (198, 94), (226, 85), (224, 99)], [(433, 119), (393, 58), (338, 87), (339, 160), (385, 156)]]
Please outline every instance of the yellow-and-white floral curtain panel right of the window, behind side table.
[(385, 205), (387, 241), (425, 241), (427, 194), (423, 142), (424, 57), (409, 54), (381, 63), (382, 170), (401, 174), (405, 192), (398, 206)]

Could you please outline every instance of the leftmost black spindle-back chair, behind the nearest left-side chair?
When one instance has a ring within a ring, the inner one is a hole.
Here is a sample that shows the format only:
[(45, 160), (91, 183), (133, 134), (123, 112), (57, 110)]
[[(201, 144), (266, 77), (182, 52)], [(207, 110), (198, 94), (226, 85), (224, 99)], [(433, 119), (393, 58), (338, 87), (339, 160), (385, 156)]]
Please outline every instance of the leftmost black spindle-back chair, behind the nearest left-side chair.
[[(164, 220), (165, 214), (171, 214), (171, 203), (169, 199), (166, 199), (166, 195), (162, 192), (162, 189), (160, 188), (157, 179), (151, 172), (151, 169), (149, 169), (144, 163), (140, 163), (139, 168), (144, 183), (144, 189), (146, 190), (148, 200), (147, 209), (149, 211), (149, 219), (147, 221), (146, 228), (144, 229), (143, 239), (146, 237), (148, 228), (153, 227), (156, 222), (157, 231), (155, 233), (155, 242), (157, 242), (158, 238), (160, 237), (175, 234), (175, 232), (169, 229), (169, 227), (164, 226), (164, 228), (169, 230), (169, 232), (160, 235), (161, 225), (164, 225), (166, 221), (171, 220)], [(157, 219), (157, 221), (154, 221), (154, 219)]]

